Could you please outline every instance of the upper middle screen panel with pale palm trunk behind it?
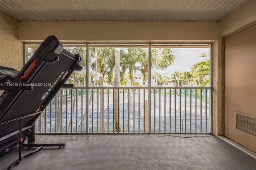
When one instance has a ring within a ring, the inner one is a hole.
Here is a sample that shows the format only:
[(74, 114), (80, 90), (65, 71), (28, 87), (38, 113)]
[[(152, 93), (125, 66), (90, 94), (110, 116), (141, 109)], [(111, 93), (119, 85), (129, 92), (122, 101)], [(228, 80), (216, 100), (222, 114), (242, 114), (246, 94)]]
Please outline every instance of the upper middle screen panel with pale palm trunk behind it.
[(92, 87), (148, 87), (148, 48), (144, 46), (90, 47), (89, 85)]

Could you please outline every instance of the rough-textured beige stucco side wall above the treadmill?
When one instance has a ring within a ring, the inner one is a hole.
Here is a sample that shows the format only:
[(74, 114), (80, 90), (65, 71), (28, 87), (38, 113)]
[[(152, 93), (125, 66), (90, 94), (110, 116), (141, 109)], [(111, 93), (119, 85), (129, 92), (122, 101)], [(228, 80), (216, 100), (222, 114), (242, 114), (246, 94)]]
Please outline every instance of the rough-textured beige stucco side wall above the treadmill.
[(0, 12), (0, 65), (20, 71), (23, 62), (23, 43), (17, 39), (16, 20)]

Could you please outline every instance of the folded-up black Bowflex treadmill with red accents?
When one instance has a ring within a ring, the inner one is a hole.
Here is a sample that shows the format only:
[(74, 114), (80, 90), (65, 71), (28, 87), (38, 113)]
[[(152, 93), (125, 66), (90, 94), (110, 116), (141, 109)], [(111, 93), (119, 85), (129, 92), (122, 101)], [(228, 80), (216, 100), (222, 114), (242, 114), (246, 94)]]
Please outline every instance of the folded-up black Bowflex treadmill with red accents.
[[(79, 54), (73, 55), (63, 48), (55, 36), (49, 36), (20, 72), (0, 67), (0, 90), (5, 90), (0, 96), (0, 159), (19, 150), (19, 159), (8, 169), (44, 146), (65, 146), (64, 143), (24, 142), (31, 135), (37, 118), (73, 71), (82, 70), (81, 63)], [(23, 147), (39, 148), (21, 157)]]

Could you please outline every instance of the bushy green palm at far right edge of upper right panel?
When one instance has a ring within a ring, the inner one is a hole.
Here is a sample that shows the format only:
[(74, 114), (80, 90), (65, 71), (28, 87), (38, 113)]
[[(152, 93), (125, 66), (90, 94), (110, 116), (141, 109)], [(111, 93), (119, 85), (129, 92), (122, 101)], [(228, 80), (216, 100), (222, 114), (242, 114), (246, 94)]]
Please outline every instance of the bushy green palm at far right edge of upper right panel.
[[(199, 82), (200, 87), (210, 85), (210, 79), (205, 79), (206, 75), (210, 75), (210, 53), (201, 53), (200, 57), (205, 57), (204, 61), (195, 63), (191, 68), (191, 81)], [(201, 82), (201, 80), (204, 81)]]

